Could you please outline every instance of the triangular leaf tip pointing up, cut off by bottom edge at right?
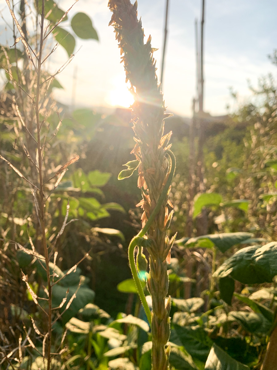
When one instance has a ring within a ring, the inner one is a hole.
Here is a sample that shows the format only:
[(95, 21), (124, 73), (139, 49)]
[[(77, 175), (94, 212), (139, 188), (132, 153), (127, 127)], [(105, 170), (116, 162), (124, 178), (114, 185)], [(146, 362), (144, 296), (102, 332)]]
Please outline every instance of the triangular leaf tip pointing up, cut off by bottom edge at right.
[(250, 370), (248, 366), (234, 360), (228, 353), (213, 344), (205, 364), (205, 370)]

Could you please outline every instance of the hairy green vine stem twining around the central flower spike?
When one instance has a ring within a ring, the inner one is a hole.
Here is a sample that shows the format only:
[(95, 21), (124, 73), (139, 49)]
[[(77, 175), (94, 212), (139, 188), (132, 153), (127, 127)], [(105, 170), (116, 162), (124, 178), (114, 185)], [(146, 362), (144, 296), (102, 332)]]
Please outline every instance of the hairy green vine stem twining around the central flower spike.
[(150, 312), (150, 309), (149, 309), (148, 304), (146, 302), (146, 297), (145, 297), (144, 292), (143, 292), (143, 287), (141, 286), (140, 278), (138, 276), (138, 272), (137, 272), (137, 268), (136, 268), (136, 262), (135, 262), (135, 256), (134, 256), (134, 250), (135, 250), (136, 246), (140, 245), (141, 238), (147, 233), (148, 229), (150, 228), (151, 224), (154, 221), (155, 216), (157, 216), (158, 212), (160, 211), (161, 206), (163, 205), (163, 202), (164, 202), (165, 198), (168, 195), (168, 190), (170, 189), (171, 182), (172, 182), (174, 172), (175, 172), (176, 162), (175, 162), (174, 154), (170, 150), (167, 151), (167, 154), (170, 157), (170, 161), (171, 161), (170, 172), (169, 172), (169, 175), (168, 175), (167, 182), (164, 185), (164, 188), (163, 188), (163, 191), (161, 192), (160, 198), (158, 199), (158, 202), (157, 202), (153, 212), (151, 213), (150, 217), (148, 218), (148, 221), (146, 222), (144, 227), (141, 229), (141, 231), (136, 236), (134, 236), (134, 238), (131, 240), (131, 242), (129, 244), (129, 249), (128, 249), (131, 272), (132, 272), (134, 282), (135, 282), (136, 287), (137, 287), (138, 295), (140, 296), (140, 300), (141, 300), (141, 303), (142, 303), (143, 308), (145, 310), (145, 313), (146, 313), (146, 316), (147, 316), (147, 319), (148, 319), (148, 322), (149, 322), (150, 326), (151, 326), (151, 312)]

